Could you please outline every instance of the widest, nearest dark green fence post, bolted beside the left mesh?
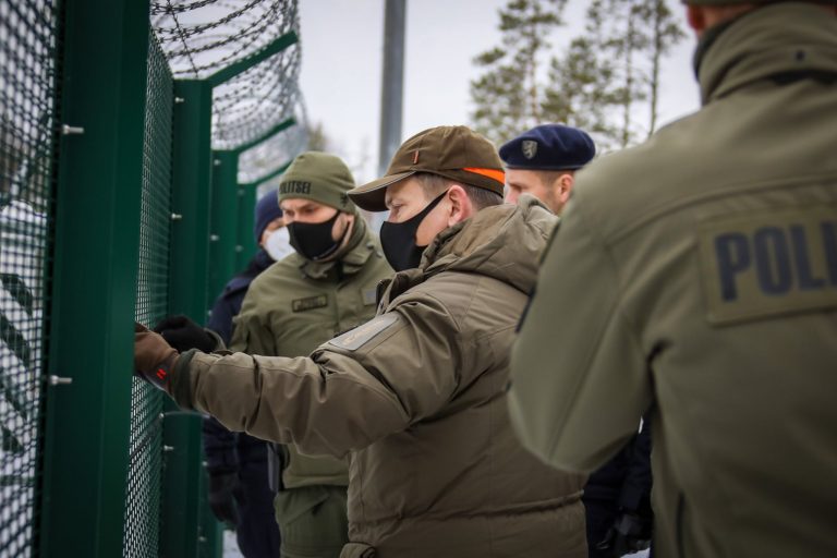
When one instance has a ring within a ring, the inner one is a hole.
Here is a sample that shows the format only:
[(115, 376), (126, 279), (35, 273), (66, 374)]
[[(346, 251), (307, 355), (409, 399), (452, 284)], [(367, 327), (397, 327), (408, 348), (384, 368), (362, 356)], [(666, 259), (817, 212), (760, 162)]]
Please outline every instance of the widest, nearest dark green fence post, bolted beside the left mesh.
[(61, 13), (58, 124), (72, 128), (47, 375), (65, 379), (47, 381), (38, 556), (106, 558), (122, 555), (125, 520), (148, 1), (64, 0)]

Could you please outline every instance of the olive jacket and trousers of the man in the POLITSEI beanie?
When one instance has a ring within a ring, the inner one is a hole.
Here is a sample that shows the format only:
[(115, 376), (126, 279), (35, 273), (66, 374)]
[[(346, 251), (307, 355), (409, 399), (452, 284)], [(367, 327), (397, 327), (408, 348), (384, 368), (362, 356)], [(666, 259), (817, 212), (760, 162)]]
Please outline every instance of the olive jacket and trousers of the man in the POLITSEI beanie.
[[(357, 217), (343, 253), (327, 262), (294, 253), (253, 281), (235, 318), (230, 349), (276, 356), (308, 354), (372, 318), (376, 287), (391, 274), (378, 240)], [(338, 555), (348, 536), (345, 460), (305, 456), (293, 445), (275, 451), (283, 457), (277, 486), (281, 489), (274, 501), (282, 556)]]

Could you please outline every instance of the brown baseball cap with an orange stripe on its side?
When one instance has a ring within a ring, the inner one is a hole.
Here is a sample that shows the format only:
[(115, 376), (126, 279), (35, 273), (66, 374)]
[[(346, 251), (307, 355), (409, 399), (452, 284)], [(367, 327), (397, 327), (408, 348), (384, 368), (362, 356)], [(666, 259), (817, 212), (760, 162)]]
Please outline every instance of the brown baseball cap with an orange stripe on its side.
[(468, 126), (437, 126), (401, 144), (387, 174), (349, 192), (359, 207), (386, 211), (387, 186), (416, 172), (429, 172), (502, 195), (506, 175), (494, 144)]

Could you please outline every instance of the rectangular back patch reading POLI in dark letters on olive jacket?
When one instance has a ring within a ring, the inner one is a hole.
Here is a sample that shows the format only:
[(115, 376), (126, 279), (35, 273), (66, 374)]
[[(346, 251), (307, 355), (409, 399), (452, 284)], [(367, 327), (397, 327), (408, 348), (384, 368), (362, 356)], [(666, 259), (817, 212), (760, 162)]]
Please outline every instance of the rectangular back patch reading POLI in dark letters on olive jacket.
[(837, 206), (707, 221), (699, 234), (711, 323), (837, 306)]

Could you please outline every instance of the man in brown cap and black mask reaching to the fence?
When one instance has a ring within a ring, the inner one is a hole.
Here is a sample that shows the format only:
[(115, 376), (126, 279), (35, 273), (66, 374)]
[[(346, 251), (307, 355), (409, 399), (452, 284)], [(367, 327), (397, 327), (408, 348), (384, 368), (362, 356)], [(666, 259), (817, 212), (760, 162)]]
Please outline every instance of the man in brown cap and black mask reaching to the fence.
[(464, 126), (408, 140), (387, 175), (353, 191), (390, 210), (399, 272), (378, 316), (307, 359), (177, 353), (136, 335), (135, 371), (232, 429), (351, 453), (343, 558), (586, 556), (585, 477), (517, 441), (509, 349), (555, 217), (501, 204), (494, 146)]

